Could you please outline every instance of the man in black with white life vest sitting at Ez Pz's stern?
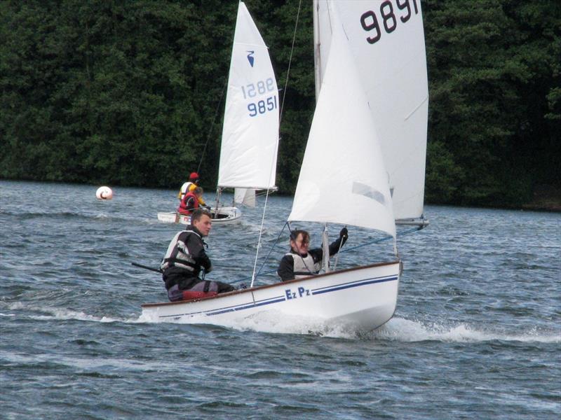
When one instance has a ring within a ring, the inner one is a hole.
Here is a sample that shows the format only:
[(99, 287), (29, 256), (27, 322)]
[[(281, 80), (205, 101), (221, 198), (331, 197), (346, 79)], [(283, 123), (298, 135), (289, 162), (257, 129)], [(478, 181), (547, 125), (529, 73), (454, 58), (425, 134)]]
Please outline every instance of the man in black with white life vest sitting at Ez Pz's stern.
[[(201, 279), (199, 274), (212, 271), (212, 263), (205, 252), (203, 237), (208, 236), (212, 220), (209, 211), (197, 209), (191, 216), (191, 225), (177, 232), (170, 241), (160, 268), (170, 301), (194, 299), (236, 290), (222, 281)], [(204, 278), (204, 276), (203, 276)]]

